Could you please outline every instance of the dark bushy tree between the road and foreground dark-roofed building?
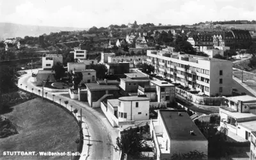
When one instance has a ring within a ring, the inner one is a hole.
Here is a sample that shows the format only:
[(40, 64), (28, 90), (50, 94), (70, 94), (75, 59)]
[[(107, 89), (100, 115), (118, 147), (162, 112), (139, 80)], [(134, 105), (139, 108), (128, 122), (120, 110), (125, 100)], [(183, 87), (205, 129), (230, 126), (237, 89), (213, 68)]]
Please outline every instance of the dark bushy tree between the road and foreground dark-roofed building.
[(129, 155), (139, 155), (144, 143), (142, 134), (132, 128), (128, 131), (124, 130), (121, 137), (116, 138), (116, 148)]

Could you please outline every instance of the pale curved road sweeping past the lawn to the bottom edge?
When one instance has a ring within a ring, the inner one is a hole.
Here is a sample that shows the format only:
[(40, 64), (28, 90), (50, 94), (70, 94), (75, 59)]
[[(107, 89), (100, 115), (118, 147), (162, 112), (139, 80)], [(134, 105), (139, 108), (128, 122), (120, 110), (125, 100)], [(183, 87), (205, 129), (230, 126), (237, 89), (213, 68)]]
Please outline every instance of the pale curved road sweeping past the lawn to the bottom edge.
[[(42, 87), (35, 86), (29, 81), (29, 78), (31, 77), (31, 70), (27, 70), (28, 74), (20, 77), (19, 79), (19, 87), (21, 87), (24, 90), (28, 90), (28, 92), (33, 92), (38, 95), (38, 90), (40, 89), (40, 95), (42, 96)], [(36, 72), (36, 70), (33, 70), (33, 72)], [(22, 84), (22, 85), (20, 85)], [(26, 87), (27, 86), (27, 87)], [(32, 91), (31, 88), (34, 88)], [(44, 91), (48, 92), (48, 91)], [(59, 95), (60, 93), (53, 93), (48, 92), (47, 93), (47, 99), (52, 100), (52, 94), (55, 96), (54, 102), (64, 104), (64, 100), (68, 100), (67, 108), (70, 108), (70, 105), (72, 105), (72, 109), (78, 109), (77, 115), (80, 115), (80, 109), (82, 109), (83, 117), (82, 121), (84, 122), (83, 125), (83, 132), (84, 132), (84, 144), (83, 152), (88, 152), (88, 157), (82, 157), (81, 159), (113, 159), (113, 146), (112, 146), (112, 140), (111, 140), (111, 133), (109, 132), (109, 126), (106, 127), (106, 124), (104, 124), (100, 120), (99, 116), (95, 115), (95, 110), (92, 111), (92, 108), (90, 108), (86, 103), (79, 102), (77, 100), (72, 100), (69, 97), (65, 97), (63, 95)], [(44, 94), (45, 97), (45, 94)], [(88, 141), (90, 139), (90, 141)], [(86, 148), (87, 145), (87, 148)], [(89, 148), (89, 149), (88, 149)], [(84, 151), (87, 149), (86, 151)]]

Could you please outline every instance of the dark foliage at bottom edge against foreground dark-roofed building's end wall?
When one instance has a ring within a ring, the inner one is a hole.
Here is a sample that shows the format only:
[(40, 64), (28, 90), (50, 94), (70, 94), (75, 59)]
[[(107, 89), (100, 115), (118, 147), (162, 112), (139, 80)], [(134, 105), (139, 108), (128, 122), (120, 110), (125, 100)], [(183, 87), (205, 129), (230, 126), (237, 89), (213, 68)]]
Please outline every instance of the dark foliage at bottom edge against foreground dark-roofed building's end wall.
[(206, 159), (207, 155), (204, 152), (198, 152), (194, 150), (193, 152), (189, 152), (187, 154), (173, 154), (171, 159), (173, 160), (182, 160), (182, 159), (189, 159), (189, 160), (202, 160)]

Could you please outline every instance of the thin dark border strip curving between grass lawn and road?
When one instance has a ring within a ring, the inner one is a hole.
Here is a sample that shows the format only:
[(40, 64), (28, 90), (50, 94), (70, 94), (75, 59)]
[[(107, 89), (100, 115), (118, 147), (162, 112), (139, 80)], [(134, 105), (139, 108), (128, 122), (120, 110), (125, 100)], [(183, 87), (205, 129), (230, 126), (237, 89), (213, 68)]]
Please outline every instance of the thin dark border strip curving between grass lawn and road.
[[(41, 98), (40, 95), (36, 95), (36, 93), (31, 93), (31, 92), (28, 92), (26, 90), (23, 90), (22, 88), (19, 88), (20, 91), (24, 92), (24, 93), (30, 93), (31, 95), (37, 97), (37, 98)], [(79, 130), (80, 130), (80, 140), (79, 140), (79, 144), (77, 146), (77, 151), (79, 153), (82, 152), (83, 150), (83, 140), (84, 140), (84, 137), (83, 137), (83, 129), (82, 129), (82, 126), (81, 126), (81, 122), (79, 122), (76, 118), (76, 116), (73, 114), (72, 111), (69, 111), (67, 108), (65, 108), (65, 106), (61, 106), (61, 104), (59, 104), (58, 102), (54, 102), (50, 99), (47, 99), (47, 98), (44, 98), (44, 100), (46, 100), (47, 102), (50, 102), (56, 106), (58, 106), (59, 108), (63, 109), (64, 111), (66, 111), (70, 116), (72, 116), (74, 118), (74, 120), (77, 122), (77, 125), (79, 126)], [(80, 156), (75, 156), (74, 157), (74, 160), (77, 160), (77, 159), (80, 159)]]

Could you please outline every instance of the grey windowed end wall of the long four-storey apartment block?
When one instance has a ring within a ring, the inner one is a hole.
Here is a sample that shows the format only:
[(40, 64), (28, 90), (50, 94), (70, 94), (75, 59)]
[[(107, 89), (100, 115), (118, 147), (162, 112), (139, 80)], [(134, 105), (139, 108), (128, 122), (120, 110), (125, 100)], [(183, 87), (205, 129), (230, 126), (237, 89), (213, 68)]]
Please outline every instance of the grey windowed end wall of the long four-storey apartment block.
[[(211, 63), (210, 71), (210, 95), (230, 95), (232, 92), (232, 61), (217, 61)], [(220, 76), (220, 70), (222, 70), (222, 76)], [(220, 79), (222, 79), (222, 84), (220, 84)], [(222, 92), (220, 92), (220, 87), (222, 87)]]

